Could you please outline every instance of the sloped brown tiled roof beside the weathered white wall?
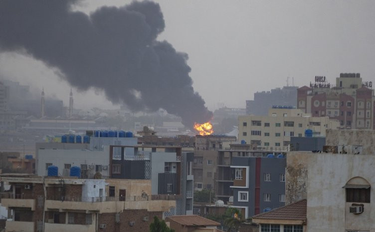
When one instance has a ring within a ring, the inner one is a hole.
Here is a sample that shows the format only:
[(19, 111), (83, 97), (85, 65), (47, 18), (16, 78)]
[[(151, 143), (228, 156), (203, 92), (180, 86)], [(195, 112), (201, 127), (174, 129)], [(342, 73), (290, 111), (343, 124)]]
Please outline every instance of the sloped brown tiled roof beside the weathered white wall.
[(266, 219), (266, 220), (306, 220), (307, 200), (303, 199), (298, 202), (258, 214), (252, 219)]

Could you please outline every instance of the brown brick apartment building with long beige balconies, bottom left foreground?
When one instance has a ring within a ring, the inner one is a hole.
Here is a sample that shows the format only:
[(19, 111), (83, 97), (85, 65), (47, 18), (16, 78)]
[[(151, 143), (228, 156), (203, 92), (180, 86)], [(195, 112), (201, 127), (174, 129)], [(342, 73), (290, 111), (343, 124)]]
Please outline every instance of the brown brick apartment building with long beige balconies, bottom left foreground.
[(148, 232), (154, 216), (176, 206), (173, 196), (132, 189), (129, 197), (109, 197), (98, 179), (1, 175), (1, 183), (10, 185), (0, 195), (5, 232)]

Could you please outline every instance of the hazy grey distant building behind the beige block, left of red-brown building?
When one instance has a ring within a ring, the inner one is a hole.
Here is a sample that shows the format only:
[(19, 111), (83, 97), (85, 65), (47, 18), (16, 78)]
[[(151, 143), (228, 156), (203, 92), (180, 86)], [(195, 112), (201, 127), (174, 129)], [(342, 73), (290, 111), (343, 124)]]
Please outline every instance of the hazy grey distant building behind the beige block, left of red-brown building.
[(254, 100), (246, 100), (246, 114), (267, 115), (273, 105), (296, 106), (297, 86), (284, 86), (254, 93)]

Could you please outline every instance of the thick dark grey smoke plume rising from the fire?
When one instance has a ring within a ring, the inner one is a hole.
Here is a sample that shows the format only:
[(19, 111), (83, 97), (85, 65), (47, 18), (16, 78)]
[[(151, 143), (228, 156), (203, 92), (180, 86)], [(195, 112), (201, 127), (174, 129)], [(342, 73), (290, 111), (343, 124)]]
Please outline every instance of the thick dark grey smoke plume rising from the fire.
[(133, 110), (166, 109), (191, 127), (212, 113), (194, 92), (187, 54), (156, 40), (165, 23), (159, 4), (101, 7), (90, 15), (75, 1), (1, 0), (0, 49), (23, 51), (57, 67), (80, 90), (105, 91)]

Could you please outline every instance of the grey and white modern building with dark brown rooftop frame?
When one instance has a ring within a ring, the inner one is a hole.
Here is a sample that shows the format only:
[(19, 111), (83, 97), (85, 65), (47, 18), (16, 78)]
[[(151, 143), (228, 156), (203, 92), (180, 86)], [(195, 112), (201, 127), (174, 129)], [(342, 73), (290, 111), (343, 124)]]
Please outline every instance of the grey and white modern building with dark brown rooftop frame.
[[(192, 214), (192, 153), (174, 146), (111, 145), (109, 149), (110, 178), (151, 180), (151, 194), (176, 196), (176, 208), (165, 216)], [(115, 149), (120, 149), (120, 156), (114, 156)]]

